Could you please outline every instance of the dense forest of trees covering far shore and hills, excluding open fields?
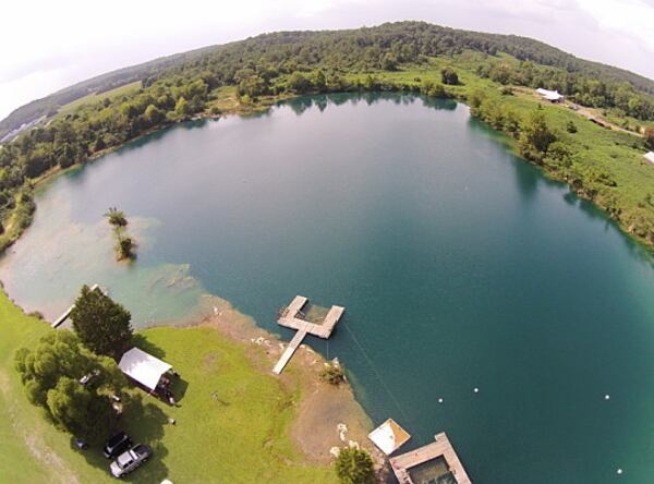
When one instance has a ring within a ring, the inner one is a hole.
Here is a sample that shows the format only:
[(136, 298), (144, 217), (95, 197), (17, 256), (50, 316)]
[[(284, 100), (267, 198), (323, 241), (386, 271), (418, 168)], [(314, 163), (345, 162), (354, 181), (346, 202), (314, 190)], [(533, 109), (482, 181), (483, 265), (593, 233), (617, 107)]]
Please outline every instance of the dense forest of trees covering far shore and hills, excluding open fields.
[[(653, 81), (577, 59), (528, 38), (417, 22), (354, 31), (265, 34), (128, 68), (28, 105), (23, 114), (41, 114), (41, 108), (56, 111), (88, 89), (102, 90), (121, 80), (141, 80), (141, 88), (134, 92), (51, 118), (0, 147), (0, 217), (11, 228), (11, 233), (1, 239), (2, 246), (31, 221), (32, 181), (55, 168), (84, 162), (167, 123), (201, 113), (219, 114), (220, 108), (214, 101), (226, 86), (235, 88), (242, 105), (256, 102), (261, 96), (310, 92), (420, 90), (447, 97), (456, 95), (448, 88), (458, 83), (451, 70), (443, 71), (440, 82), (422, 84), (415, 80), (385, 84), (378, 75), (427, 69), (435, 58), (470, 51), (474, 52), (471, 69), (482, 78), (500, 85), (558, 88), (582, 105), (619, 109), (641, 121), (654, 119), (654, 97), (649, 94), (654, 93)], [(21, 117), (19, 111), (12, 113), (14, 120)], [(513, 133), (525, 131), (519, 120), (507, 128), (510, 124), (500, 128)], [(645, 239), (650, 237), (649, 225)], [(2, 231), (4, 227), (0, 226)]]

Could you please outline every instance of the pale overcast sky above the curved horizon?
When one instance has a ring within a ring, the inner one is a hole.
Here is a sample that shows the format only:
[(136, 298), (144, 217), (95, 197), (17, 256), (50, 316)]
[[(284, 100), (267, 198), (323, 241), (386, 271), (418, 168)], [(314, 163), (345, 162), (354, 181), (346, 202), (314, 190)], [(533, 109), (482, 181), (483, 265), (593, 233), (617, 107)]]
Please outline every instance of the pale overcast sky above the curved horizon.
[(0, 119), (78, 81), (280, 29), (422, 20), (534, 37), (654, 78), (654, 0), (10, 1), (0, 24)]

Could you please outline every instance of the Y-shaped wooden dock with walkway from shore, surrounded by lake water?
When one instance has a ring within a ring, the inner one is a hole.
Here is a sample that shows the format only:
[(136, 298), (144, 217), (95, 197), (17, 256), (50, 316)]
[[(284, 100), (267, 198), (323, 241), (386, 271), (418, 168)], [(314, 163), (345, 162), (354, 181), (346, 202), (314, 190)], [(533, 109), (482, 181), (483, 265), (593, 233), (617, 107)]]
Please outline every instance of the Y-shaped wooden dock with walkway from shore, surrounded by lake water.
[(317, 336), (318, 338), (323, 339), (329, 338), (334, 331), (334, 328), (346, 311), (346, 308), (342, 306), (331, 306), (325, 316), (325, 319), (323, 319), (323, 323), (311, 323), (300, 317), (302, 315), (302, 308), (307, 302), (308, 299), (305, 297), (296, 295), (288, 305), (288, 307), (280, 314), (279, 319), (277, 319), (277, 323), (280, 326), (289, 329), (295, 329), (298, 332), (295, 336), (293, 336), (293, 339), (291, 339), (289, 346), (272, 368), (272, 373), (276, 375), (279, 375), (283, 371), (284, 366), (291, 360), (291, 356), (300, 347), (306, 335)]

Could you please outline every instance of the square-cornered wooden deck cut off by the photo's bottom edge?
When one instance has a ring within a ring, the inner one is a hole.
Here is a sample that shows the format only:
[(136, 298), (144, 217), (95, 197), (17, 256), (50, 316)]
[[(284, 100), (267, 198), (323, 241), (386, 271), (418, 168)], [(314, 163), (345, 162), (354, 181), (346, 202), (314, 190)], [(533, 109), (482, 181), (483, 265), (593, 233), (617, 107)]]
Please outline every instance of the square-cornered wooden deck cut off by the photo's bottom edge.
[(390, 467), (400, 484), (414, 484), (409, 474), (411, 468), (437, 459), (440, 456), (445, 458), (458, 484), (472, 484), (445, 432), (437, 434), (434, 438), (436, 441), (432, 444), (390, 459)]

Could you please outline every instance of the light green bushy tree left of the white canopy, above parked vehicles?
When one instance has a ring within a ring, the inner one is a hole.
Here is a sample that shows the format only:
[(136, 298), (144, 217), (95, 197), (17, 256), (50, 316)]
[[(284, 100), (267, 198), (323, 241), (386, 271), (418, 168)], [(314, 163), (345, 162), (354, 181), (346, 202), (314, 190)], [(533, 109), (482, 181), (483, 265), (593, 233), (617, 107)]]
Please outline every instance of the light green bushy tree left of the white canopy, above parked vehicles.
[(69, 330), (50, 331), (14, 359), (29, 401), (57, 427), (92, 445), (116, 429), (112, 396), (131, 401), (128, 384), (113, 360), (98, 356)]

